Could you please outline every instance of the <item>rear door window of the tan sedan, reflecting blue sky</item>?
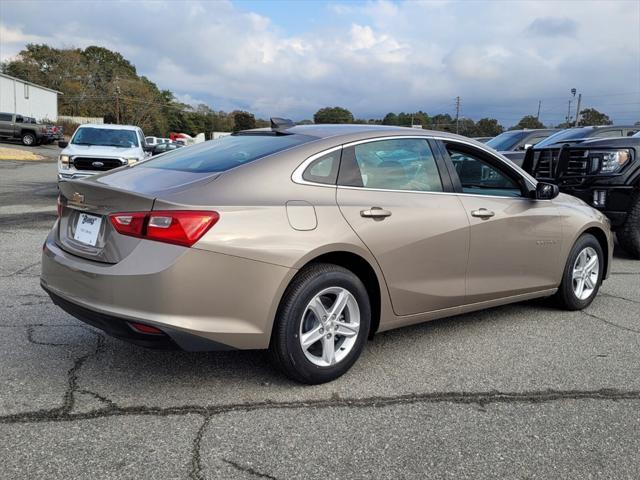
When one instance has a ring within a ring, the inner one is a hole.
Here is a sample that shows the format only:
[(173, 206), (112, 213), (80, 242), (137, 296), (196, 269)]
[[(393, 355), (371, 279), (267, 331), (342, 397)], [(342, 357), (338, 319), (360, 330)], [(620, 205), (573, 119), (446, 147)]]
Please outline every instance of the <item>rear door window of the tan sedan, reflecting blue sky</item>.
[(382, 190), (442, 192), (442, 180), (426, 139), (361, 143), (345, 149), (340, 184)]

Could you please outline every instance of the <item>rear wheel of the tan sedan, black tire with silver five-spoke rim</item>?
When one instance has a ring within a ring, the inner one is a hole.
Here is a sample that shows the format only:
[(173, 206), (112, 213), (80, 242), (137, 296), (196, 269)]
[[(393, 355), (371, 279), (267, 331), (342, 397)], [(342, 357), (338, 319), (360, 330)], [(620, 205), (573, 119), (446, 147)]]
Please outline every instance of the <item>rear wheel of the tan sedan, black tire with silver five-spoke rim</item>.
[(314, 264), (294, 277), (283, 296), (270, 355), (292, 380), (330, 382), (358, 359), (370, 325), (371, 305), (362, 281), (338, 265)]

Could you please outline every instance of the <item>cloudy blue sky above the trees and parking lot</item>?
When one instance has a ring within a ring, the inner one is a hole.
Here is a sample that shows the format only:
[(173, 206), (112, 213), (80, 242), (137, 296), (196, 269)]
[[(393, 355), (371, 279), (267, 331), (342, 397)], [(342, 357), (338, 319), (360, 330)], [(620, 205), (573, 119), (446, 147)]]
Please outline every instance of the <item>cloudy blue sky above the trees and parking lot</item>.
[(541, 100), (557, 124), (576, 88), (640, 120), (639, 0), (0, 0), (0, 60), (29, 42), (110, 48), (181, 101), (262, 118), (454, 114), (460, 96), (462, 117), (510, 126)]

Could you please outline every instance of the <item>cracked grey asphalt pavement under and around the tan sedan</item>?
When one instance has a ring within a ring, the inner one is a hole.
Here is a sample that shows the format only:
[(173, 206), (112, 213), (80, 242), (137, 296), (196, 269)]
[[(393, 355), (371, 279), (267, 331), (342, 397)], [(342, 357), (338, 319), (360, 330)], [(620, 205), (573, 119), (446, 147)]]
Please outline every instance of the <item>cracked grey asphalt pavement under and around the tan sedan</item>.
[(585, 312), (530, 302), (378, 335), (317, 387), (260, 352), (143, 350), (38, 286), (55, 164), (0, 162), (3, 478), (638, 478), (640, 262)]

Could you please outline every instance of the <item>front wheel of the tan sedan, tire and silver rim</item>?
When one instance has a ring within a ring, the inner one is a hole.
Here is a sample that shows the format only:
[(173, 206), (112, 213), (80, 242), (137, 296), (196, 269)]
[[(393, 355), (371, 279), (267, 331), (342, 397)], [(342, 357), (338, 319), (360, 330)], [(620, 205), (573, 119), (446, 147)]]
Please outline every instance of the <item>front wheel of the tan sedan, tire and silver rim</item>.
[[(590, 267), (595, 257), (595, 267)], [(573, 245), (562, 275), (556, 300), (565, 310), (582, 310), (598, 294), (604, 274), (604, 253), (600, 242), (584, 234)]]

